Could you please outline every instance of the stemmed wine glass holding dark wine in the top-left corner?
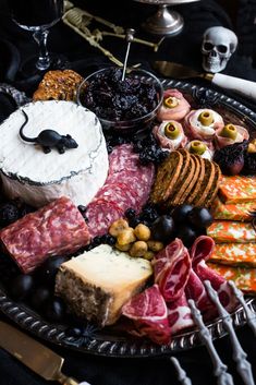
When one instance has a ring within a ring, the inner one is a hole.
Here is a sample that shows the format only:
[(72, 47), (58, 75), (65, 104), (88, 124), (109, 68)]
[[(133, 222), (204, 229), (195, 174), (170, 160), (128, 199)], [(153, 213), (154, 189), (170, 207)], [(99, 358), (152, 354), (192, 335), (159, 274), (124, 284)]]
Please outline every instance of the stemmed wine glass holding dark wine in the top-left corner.
[(32, 31), (38, 44), (39, 55), (34, 63), (39, 71), (49, 69), (52, 57), (47, 49), (49, 28), (58, 23), (63, 14), (63, 0), (11, 0), (13, 21), (23, 29)]

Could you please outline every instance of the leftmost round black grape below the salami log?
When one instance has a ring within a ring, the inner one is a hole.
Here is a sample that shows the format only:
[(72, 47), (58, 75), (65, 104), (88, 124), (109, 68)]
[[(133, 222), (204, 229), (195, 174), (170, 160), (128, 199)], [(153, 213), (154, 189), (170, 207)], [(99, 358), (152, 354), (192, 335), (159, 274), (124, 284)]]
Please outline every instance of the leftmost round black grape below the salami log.
[(26, 299), (34, 288), (34, 277), (28, 274), (21, 274), (10, 282), (10, 294), (17, 301)]

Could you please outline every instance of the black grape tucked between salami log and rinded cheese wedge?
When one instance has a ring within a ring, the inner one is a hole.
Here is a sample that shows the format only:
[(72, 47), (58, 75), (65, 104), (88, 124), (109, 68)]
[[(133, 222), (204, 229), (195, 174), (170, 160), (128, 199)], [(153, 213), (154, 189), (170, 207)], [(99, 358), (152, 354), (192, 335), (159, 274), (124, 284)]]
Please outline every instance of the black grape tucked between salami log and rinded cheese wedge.
[(50, 256), (37, 269), (37, 275), (41, 282), (48, 285), (54, 285), (56, 275), (60, 265), (68, 261), (66, 256)]

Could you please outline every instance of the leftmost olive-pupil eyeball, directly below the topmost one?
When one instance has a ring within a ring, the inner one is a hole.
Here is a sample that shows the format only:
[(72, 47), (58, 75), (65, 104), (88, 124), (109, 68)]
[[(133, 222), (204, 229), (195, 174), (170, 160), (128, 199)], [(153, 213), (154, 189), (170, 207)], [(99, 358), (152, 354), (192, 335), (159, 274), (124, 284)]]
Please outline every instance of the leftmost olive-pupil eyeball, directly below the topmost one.
[(161, 148), (169, 152), (185, 147), (187, 142), (181, 123), (175, 120), (163, 121), (153, 129), (153, 133)]

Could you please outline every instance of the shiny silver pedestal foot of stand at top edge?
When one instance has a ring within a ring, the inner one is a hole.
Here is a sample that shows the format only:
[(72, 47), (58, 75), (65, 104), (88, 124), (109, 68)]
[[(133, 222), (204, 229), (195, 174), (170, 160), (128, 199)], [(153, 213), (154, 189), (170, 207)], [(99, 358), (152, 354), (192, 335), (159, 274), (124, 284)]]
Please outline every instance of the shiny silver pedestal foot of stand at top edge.
[(178, 35), (183, 26), (184, 20), (176, 11), (169, 10), (170, 5), (184, 4), (199, 0), (135, 0), (137, 2), (159, 5), (158, 11), (143, 23), (143, 28), (156, 35)]

